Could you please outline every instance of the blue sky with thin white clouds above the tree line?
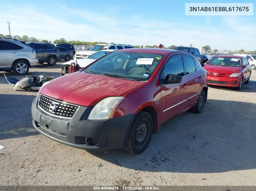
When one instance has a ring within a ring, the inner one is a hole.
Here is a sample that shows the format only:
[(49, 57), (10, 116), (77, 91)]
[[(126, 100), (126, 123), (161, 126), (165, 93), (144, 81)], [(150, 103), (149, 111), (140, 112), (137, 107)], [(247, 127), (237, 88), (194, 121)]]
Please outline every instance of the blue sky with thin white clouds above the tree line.
[(209, 45), (218, 50), (256, 49), (254, 0), (224, 1), (254, 2), (253, 16), (185, 16), (185, 2), (0, 0), (0, 33), (9, 34), (6, 21), (10, 21), (11, 35), (41, 40), (65, 38), (151, 46), (161, 43), (165, 47), (192, 43), (194, 47)]

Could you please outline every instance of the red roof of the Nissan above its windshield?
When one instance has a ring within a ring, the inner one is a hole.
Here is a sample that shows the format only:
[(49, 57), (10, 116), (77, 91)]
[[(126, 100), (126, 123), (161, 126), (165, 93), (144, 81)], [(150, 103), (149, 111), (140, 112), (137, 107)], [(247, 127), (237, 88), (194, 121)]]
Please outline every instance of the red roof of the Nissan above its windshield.
[(153, 53), (153, 54), (168, 54), (178, 50), (162, 49), (162, 48), (127, 48), (117, 50), (118, 52), (137, 52), (137, 53)]

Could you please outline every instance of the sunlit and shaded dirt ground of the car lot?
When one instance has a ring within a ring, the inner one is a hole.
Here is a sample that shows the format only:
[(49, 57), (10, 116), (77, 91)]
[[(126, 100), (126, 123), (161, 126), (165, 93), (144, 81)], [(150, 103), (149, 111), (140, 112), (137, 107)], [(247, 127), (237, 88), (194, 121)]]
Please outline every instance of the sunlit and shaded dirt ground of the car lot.
[[(59, 77), (61, 64), (38, 65), (28, 75)], [(136, 156), (88, 152), (40, 135), (31, 116), (37, 92), (14, 91), (3, 73), (0, 185), (256, 185), (256, 71), (241, 91), (210, 87), (201, 114), (164, 123)]]

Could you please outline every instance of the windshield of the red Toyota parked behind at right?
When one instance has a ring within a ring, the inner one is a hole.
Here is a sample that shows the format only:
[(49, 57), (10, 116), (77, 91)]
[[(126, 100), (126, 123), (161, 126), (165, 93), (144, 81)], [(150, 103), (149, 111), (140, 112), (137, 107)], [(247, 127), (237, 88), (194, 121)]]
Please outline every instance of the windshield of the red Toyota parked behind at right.
[(240, 67), (241, 59), (233, 58), (233, 57), (215, 57), (208, 64), (209, 65)]

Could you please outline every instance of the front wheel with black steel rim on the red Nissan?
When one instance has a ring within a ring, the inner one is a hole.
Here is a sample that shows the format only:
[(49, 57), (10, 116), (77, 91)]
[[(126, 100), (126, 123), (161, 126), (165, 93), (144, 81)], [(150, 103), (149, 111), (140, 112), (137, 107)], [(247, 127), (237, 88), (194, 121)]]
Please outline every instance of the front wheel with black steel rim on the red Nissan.
[(141, 111), (135, 117), (129, 133), (125, 151), (140, 154), (147, 147), (153, 133), (153, 119), (148, 112)]

